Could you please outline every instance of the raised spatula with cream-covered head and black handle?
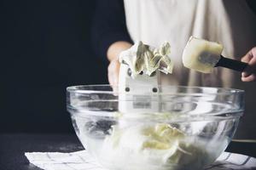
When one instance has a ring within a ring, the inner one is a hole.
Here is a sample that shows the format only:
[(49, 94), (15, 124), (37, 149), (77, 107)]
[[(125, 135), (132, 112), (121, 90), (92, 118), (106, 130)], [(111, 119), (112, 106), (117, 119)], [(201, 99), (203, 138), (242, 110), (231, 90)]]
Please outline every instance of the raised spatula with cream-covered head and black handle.
[(190, 37), (183, 50), (183, 65), (203, 73), (211, 73), (214, 67), (221, 66), (234, 71), (244, 71), (247, 63), (228, 59), (221, 55), (223, 46), (217, 42)]

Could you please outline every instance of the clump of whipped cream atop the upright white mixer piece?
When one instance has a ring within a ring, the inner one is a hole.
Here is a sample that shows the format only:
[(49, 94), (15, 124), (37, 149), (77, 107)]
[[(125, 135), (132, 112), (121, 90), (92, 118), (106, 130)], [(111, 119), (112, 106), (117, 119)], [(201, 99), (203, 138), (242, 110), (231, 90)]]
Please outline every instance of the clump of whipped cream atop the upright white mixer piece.
[(150, 76), (154, 71), (172, 73), (173, 63), (170, 59), (171, 46), (163, 43), (160, 48), (153, 48), (143, 42), (136, 42), (131, 48), (119, 54), (119, 62), (129, 65), (131, 76), (136, 77), (141, 71)]

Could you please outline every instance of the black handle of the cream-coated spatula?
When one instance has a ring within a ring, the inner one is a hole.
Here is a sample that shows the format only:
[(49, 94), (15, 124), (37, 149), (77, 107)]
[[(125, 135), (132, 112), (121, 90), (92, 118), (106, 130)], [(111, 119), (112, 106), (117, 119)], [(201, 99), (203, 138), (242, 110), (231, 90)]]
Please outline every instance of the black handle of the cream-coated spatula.
[(244, 69), (247, 67), (247, 63), (241, 62), (235, 59), (228, 59), (225, 58), (224, 56), (220, 56), (220, 59), (218, 60), (218, 63), (215, 65), (217, 66), (222, 66), (225, 68), (229, 68), (234, 71), (244, 71)]

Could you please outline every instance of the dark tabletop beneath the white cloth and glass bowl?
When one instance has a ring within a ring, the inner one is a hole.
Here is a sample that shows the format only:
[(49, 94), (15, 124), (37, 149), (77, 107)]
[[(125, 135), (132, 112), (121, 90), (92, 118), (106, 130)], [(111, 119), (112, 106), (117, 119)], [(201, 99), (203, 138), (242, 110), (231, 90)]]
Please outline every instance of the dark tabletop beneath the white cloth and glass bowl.
[[(84, 148), (74, 133), (2, 133), (0, 134), (0, 170), (41, 170), (27, 161), (25, 152), (78, 150)], [(226, 151), (256, 157), (256, 144), (231, 142)]]

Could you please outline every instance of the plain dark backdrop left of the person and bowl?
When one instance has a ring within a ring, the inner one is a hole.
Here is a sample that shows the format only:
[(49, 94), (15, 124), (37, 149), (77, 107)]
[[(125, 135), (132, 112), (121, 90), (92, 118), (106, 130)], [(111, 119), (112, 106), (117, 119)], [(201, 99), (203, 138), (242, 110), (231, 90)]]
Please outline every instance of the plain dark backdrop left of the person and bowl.
[(70, 133), (66, 88), (108, 83), (91, 49), (95, 1), (0, 1), (0, 133)]

